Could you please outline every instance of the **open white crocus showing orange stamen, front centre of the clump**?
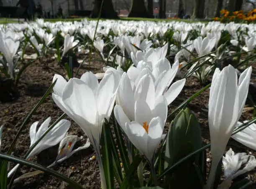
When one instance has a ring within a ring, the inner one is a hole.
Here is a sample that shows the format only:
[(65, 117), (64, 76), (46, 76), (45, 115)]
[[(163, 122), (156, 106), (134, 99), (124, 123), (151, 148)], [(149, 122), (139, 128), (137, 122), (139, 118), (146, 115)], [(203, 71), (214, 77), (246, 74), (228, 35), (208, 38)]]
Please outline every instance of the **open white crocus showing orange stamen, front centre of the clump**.
[[(152, 91), (154, 93), (154, 91)], [(152, 98), (153, 100), (154, 98)], [(151, 100), (151, 99), (148, 99)], [(133, 145), (151, 162), (161, 141), (167, 117), (167, 103), (163, 96), (159, 97), (153, 107), (143, 100), (135, 101), (134, 120), (130, 120), (122, 107), (114, 108), (115, 118)]]

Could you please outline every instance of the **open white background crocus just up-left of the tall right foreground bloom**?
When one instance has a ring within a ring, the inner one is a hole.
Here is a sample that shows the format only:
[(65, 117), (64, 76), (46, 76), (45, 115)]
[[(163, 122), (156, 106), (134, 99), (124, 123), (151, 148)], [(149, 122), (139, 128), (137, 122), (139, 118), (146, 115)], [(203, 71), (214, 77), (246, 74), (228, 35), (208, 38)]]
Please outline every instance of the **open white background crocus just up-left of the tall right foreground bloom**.
[(194, 46), (197, 54), (199, 56), (203, 56), (210, 53), (215, 45), (215, 42), (216, 38), (209, 39), (208, 37), (205, 37), (204, 39), (202, 39), (201, 36), (196, 38), (194, 40)]

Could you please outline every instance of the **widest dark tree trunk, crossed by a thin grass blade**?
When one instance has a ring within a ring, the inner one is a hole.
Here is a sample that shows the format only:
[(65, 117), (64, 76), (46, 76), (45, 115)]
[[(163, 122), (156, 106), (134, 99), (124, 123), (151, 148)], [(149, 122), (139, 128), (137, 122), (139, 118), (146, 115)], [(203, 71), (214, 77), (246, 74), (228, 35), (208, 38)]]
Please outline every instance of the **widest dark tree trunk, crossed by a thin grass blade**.
[[(94, 0), (91, 18), (98, 18), (100, 14), (102, 0)], [(115, 12), (112, 0), (104, 0), (100, 18), (118, 19), (118, 14)]]

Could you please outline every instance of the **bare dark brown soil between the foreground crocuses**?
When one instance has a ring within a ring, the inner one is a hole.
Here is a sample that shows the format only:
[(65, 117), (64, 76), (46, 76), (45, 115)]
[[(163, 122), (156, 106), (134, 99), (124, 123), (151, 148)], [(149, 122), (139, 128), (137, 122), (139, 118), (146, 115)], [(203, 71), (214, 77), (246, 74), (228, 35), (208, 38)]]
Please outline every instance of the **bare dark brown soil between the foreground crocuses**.
[[(1, 103), (0, 106), (0, 123), (5, 125), (5, 129), (3, 130), (2, 136), (2, 151), (5, 152), (8, 150), (11, 142), (13, 141), (15, 134), (17, 133), (20, 125), (22, 124), (24, 118), (28, 115), (31, 109), (36, 106), (38, 101), (40, 101), (41, 97), (44, 95), (46, 90), (52, 83), (52, 78), (54, 76), (54, 70), (65, 73), (63, 67), (59, 66), (56, 60), (50, 60), (49, 55), (46, 57), (44, 62), (47, 62), (45, 65), (42, 65), (39, 61), (31, 64), (26, 71), (23, 73), (20, 78), (20, 83), (18, 84), (18, 90), (20, 92), (20, 97), (13, 102)], [(82, 58), (81, 58), (82, 59)], [(95, 59), (95, 58), (92, 58)], [(105, 66), (102, 62), (93, 61), (90, 66), (90, 71), (93, 73), (103, 72), (103, 67)], [(49, 69), (51, 68), (51, 69)], [(74, 68), (74, 71), (77, 71), (77, 68)], [(79, 70), (78, 78), (82, 75), (82, 73), (89, 71), (89, 67), (84, 65)], [(66, 73), (65, 73), (66, 74)], [(28, 76), (31, 78), (31, 82), (28, 82), (26, 78)], [(253, 82), (255, 83), (256, 75), (252, 76), (254, 78)], [(210, 81), (209, 81), (210, 82)], [(186, 100), (188, 97), (192, 96), (194, 93), (199, 91), (203, 86), (197, 82), (195, 78), (188, 78), (186, 81), (186, 85), (182, 90), (182, 93), (178, 96), (178, 98), (171, 104), (169, 112), (172, 112), (182, 101)], [(197, 98), (193, 99), (188, 107), (195, 113), (200, 122), (201, 131), (202, 131), (202, 139), (204, 141), (204, 145), (210, 142), (210, 133), (208, 127), (208, 113), (203, 111), (202, 108), (205, 108), (209, 100), (209, 89), (200, 94)], [(255, 90), (254, 90), (255, 91)], [(256, 99), (256, 98), (254, 98)], [(249, 107), (247, 104), (246, 107)], [(29, 138), (29, 128), (31, 124), (35, 121), (39, 121), (39, 125), (49, 116), (51, 116), (53, 123), (59, 116), (62, 115), (62, 111), (58, 106), (55, 105), (54, 101), (49, 95), (44, 103), (38, 108), (36, 113), (33, 114), (28, 124), (26, 124), (23, 129), (18, 141), (17, 145), (14, 149), (14, 156), (23, 157), (30, 146), (30, 138)], [(241, 116), (240, 121), (249, 120), (252, 118), (252, 111), (244, 112)], [(169, 118), (166, 123), (166, 131), (169, 127), (169, 122), (172, 121), (172, 118)], [(74, 123), (70, 118), (67, 118), (72, 122), (72, 126), (69, 130), (69, 134), (74, 134), (78, 136), (83, 135), (82, 129)], [(165, 131), (165, 132), (166, 132)], [(86, 140), (84, 140), (86, 141)], [(83, 142), (82, 142), (83, 143)], [(79, 145), (79, 144), (78, 144)], [(81, 145), (81, 144), (80, 144)], [(256, 152), (248, 149), (242, 144), (230, 139), (227, 150), (232, 148), (235, 153), (238, 152), (251, 152), (252, 155), (256, 156)], [(48, 166), (52, 162), (54, 162), (57, 155), (58, 146), (54, 146), (50, 149), (46, 149), (45, 151), (38, 154), (38, 156), (33, 157), (31, 161), (36, 161), (39, 164)], [(80, 185), (82, 185), (85, 189), (100, 189), (100, 174), (97, 166), (97, 161), (90, 161), (88, 159), (95, 155), (95, 152), (92, 146), (89, 149), (84, 151), (79, 151), (74, 154), (71, 158), (65, 160), (61, 164), (58, 164), (54, 167), (54, 170), (61, 172), (69, 176), (74, 181), (77, 181)], [(210, 153), (207, 151), (207, 157), (210, 158)], [(13, 166), (13, 164), (11, 164)], [(35, 171), (35, 169), (31, 169), (27, 166), (23, 166), (22, 169), (18, 172), (18, 176), (25, 174), (29, 171)], [(248, 173), (246, 173), (248, 174)], [(243, 177), (246, 177), (246, 174)], [(256, 182), (256, 170), (249, 172), (251, 180)], [(254, 186), (253, 186), (254, 185)], [(256, 184), (253, 184), (250, 189), (256, 189)], [(24, 179), (23, 181), (19, 181), (14, 184), (13, 189), (70, 189), (71, 187), (60, 181), (59, 179), (54, 178), (53, 176), (48, 176), (46, 174), (40, 174), (38, 176), (31, 177), (29, 179)]]

